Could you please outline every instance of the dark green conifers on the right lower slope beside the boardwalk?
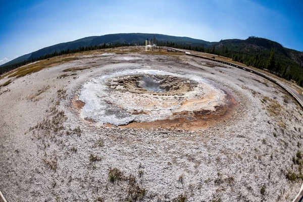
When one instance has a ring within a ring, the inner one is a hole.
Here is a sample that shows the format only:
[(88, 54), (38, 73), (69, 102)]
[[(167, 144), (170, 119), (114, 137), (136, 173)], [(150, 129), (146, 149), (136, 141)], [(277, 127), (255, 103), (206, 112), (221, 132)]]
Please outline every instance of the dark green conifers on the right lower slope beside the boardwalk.
[[(254, 37), (250, 37), (248, 39), (253, 40)], [(299, 86), (303, 87), (303, 64), (298, 64), (285, 56), (285, 54), (281, 53), (283, 51), (285, 52), (285, 50), (282, 50), (279, 46), (273, 46), (271, 49), (265, 48), (262, 50), (259, 48), (251, 48), (247, 52), (245, 50), (245, 44), (235, 45), (232, 43), (223, 44), (219, 42), (212, 45), (206, 45), (175, 43), (169, 41), (158, 41), (157, 44), (231, 58), (233, 61), (243, 63), (247, 66), (268, 70), (279, 77), (293, 80)]]

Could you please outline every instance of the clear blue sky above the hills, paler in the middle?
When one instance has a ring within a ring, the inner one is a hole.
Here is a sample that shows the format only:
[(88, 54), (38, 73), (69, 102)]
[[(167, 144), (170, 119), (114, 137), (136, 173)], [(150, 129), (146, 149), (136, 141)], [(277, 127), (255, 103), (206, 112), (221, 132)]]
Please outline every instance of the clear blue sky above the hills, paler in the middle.
[(301, 0), (0, 0), (0, 64), (61, 42), (133, 32), (259, 36), (303, 51), (302, 8)]

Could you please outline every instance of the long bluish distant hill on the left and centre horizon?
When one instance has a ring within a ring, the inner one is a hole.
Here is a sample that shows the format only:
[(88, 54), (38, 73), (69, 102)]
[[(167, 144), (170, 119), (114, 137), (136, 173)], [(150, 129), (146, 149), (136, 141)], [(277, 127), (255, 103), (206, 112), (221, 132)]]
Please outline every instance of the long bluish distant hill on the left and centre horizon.
[(145, 33), (107, 34), (107, 35), (103, 35), (103, 36), (89, 36), (89, 37), (81, 38), (81, 39), (78, 39), (75, 41), (59, 43), (56, 45), (44, 47), (33, 53), (16, 58), (6, 64), (1, 65), (0, 67), (36, 59), (41, 56), (45, 56), (47, 54), (53, 54), (55, 52), (59, 53), (61, 51), (66, 51), (68, 49), (72, 50), (72, 49), (77, 49), (79, 47), (102, 45), (104, 43), (106, 43), (106, 44), (132, 43), (132, 44), (143, 45), (143, 44), (145, 44), (146, 39), (149, 39), (149, 40), (153, 39), (154, 36), (158, 41), (170, 41), (170, 42), (174, 42), (174, 43), (192, 43), (192, 44), (200, 44), (200, 45), (205, 45), (205, 46), (211, 44), (211, 42), (200, 40), (200, 39), (193, 39), (193, 38), (189, 38), (189, 37), (180, 37), (180, 36), (169, 36), (169, 35), (164, 35), (164, 34), (145, 34)]

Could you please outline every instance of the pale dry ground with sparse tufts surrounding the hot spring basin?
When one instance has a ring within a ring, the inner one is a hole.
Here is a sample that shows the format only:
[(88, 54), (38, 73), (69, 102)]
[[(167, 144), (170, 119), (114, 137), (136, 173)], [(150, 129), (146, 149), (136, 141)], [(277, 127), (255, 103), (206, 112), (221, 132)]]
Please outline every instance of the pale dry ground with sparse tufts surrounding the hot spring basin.
[[(34, 73), (25, 67), (0, 79), (6, 83), (0, 89), (0, 190), (8, 201), (294, 198), (302, 183), (303, 117), (288, 94), (234, 67), (141, 49), (58, 57), (28, 65)], [(195, 130), (81, 118), (78, 98), (86, 83), (135, 69), (206, 78), (232, 92), (237, 108)]]

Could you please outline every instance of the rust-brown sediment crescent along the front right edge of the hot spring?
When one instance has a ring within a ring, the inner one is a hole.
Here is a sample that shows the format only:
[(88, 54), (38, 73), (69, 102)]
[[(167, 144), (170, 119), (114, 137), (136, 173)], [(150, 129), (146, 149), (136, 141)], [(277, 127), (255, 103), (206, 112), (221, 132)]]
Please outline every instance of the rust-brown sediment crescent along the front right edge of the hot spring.
[(238, 102), (230, 94), (226, 92), (226, 104), (224, 106), (216, 106), (215, 111), (199, 110), (199, 111), (182, 111), (174, 113), (170, 119), (157, 120), (153, 122), (132, 122), (127, 125), (119, 126), (120, 128), (171, 128), (184, 130), (197, 130), (212, 127), (224, 120), (231, 118), (233, 112), (238, 108)]

